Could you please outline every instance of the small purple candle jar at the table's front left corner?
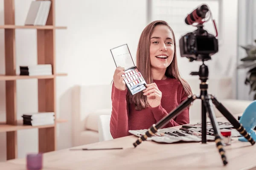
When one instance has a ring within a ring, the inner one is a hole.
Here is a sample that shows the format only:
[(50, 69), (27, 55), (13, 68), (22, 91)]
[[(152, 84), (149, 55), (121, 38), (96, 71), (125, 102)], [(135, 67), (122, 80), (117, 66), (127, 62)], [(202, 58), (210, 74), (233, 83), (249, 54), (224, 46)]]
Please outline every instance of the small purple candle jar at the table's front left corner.
[(29, 153), (26, 156), (27, 170), (41, 170), (43, 167), (42, 153)]

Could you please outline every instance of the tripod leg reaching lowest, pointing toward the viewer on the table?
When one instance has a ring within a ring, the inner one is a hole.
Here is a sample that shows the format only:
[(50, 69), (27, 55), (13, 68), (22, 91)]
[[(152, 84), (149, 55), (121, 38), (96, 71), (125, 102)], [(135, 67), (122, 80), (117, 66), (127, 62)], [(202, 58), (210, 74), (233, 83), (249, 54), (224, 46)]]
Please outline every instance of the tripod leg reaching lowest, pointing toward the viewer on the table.
[(214, 110), (213, 110), (212, 100), (211, 99), (204, 99), (204, 105), (205, 105), (205, 108), (208, 112), (209, 118), (212, 122), (212, 128), (213, 128), (214, 135), (215, 135), (216, 146), (218, 147), (219, 153), (221, 154), (221, 159), (223, 161), (223, 164), (226, 165), (227, 164), (227, 158), (225, 156), (225, 151), (223, 149), (223, 145), (222, 145), (222, 142), (221, 142), (221, 136), (219, 135), (220, 130), (219, 130), (218, 125), (217, 125), (218, 122), (216, 120), (216, 116), (215, 116), (215, 113), (214, 113)]

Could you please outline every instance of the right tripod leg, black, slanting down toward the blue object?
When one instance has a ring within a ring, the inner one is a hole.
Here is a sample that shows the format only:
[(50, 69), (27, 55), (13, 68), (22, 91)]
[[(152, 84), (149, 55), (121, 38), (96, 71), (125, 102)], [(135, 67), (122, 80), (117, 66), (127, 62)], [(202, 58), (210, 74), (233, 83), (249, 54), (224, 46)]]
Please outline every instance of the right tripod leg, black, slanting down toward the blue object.
[(223, 114), (223, 116), (236, 128), (239, 133), (244, 136), (252, 145), (255, 144), (253, 138), (249, 135), (249, 133), (244, 129), (244, 127), (236, 120), (236, 118), (224, 107), (218, 100), (211, 95), (212, 102), (218, 109), (218, 111)]

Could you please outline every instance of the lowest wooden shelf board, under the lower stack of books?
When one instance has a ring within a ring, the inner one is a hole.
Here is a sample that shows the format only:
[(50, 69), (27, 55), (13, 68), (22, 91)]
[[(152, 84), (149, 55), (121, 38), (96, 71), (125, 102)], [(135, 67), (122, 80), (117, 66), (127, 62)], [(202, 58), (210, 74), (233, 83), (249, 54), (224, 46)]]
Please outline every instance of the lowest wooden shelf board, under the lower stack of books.
[[(63, 119), (56, 120), (56, 123), (64, 123), (64, 122), (67, 122), (67, 120), (63, 120)], [(0, 122), (0, 133), (24, 130), (24, 129), (47, 128), (47, 127), (54, 127), (54, 125), (43, 125), (43, 126), (23, 125), (22, 120), (18, 120), (17, 125), (6, 125), (6, 122)]]

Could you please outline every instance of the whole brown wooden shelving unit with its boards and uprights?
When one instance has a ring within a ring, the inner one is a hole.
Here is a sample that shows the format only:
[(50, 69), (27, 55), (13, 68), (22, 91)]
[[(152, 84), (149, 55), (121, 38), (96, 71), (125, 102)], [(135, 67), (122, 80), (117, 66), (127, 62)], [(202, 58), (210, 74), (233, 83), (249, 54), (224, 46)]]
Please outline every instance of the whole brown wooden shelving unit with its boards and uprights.
[[(56, 116), (55, 86), (57, 76), (67, 74), (56, 73), (55, 63), (55, 30), (65, 29), (65, 26), (55, 26), (55, 0), (51, 0), (51, 8), (46, 26), (16, 26), (15, 0), (4, 0), (5, 35), (5, 75), (0, 75), (0, 81), (6, 82), (6, 122), (0, 122), (0, 132), (6, 132), (7, 160), (17, 158), (17, 130), (38, 128), (39, 152), (45, 153), (56, 149), (56, 124), (67, 122), (55, 120), (54, 125), (29, 126), (22, 125), (17, 120), (16, 80), (38, 79), (38, 111), (54, 112)], [(19, 76), (16, 75), (15, 29), (37, 30), (38, 64), (51, 64), (52, 75), (49, 76)]]

